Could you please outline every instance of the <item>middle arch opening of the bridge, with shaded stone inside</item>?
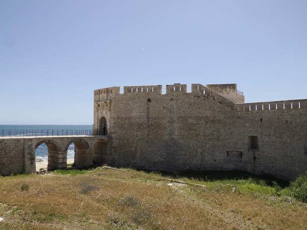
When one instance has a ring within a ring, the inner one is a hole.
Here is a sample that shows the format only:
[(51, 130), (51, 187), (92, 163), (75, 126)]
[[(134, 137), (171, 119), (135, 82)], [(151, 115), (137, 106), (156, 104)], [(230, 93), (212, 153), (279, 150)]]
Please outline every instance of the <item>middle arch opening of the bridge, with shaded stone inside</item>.
[(68, 162), (70, 157), (69, 154), (74, 152), (74, 166), (82, 168), (93, 164), (90, 146), (88, 142), (82, 138), (70, 140), (64, 150), (67, 152)]

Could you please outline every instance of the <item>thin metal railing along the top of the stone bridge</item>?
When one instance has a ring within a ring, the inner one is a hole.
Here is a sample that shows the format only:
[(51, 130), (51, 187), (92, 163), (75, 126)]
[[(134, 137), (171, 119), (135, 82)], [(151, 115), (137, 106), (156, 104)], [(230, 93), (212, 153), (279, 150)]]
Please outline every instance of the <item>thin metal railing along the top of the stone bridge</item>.
[(92, 136), (91, 129), (8, 129), (0, 130), (0, 137), (56, 137), (56, 136)]

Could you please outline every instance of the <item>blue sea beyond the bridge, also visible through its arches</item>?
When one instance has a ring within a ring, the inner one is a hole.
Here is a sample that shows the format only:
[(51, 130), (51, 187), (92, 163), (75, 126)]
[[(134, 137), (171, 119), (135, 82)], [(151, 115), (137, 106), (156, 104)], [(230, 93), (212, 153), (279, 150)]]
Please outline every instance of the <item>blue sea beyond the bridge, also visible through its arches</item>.
[[(26, 130), (53, 130), (56, 133), (57, 130), (91, 130), (92, 125), (0, 125), (0, 136), (8, 136), (8, 130), (12, 134), (26, 133)], [(48, 148), (46, 144), (39, 145), (35, 150), (36, 161), (48, 161)], [(67, 159), (74, 159), (75, 157), (75, 145), (72, 143), (67, 150)]]

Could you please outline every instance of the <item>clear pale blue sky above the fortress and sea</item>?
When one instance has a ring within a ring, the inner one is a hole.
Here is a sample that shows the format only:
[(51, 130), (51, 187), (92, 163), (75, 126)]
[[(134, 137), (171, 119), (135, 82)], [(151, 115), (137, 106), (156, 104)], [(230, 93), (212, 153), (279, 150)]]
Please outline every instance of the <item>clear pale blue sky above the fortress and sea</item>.
[(110, 86), (307, 98), (307, 0), (0, 0), (0, 124), (92, 124)]

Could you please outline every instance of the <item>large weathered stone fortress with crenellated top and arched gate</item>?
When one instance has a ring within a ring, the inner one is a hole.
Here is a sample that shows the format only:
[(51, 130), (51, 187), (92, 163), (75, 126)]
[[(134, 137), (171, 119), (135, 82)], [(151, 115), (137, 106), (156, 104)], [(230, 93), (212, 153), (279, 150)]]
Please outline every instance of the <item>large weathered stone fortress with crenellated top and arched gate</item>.
[(236, 84), (94, 91), (94, 163), (149, 170), (242, 170), (294, 180), (307, 170), (307, 99), (244, 103)]

